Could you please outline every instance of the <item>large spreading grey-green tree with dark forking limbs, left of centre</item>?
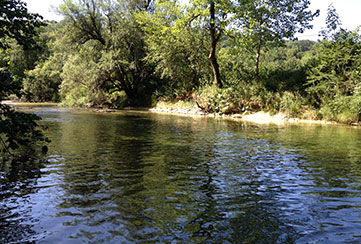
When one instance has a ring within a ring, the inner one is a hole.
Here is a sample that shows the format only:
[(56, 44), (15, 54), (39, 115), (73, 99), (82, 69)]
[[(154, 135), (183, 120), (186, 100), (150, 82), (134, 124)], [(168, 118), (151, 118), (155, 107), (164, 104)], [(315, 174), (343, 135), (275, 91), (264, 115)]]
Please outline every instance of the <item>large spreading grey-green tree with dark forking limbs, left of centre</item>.
[(65, 103), (103, 106), (119, 91), (126, 93), (130, 105), (151, 100), (157, 79), (153, 65), (145, 61), (144, 35), (132, 12), (148, 7), (134, 4), (69, 0), (60, 6), (65, 40), (74, 47), (61, 75)]

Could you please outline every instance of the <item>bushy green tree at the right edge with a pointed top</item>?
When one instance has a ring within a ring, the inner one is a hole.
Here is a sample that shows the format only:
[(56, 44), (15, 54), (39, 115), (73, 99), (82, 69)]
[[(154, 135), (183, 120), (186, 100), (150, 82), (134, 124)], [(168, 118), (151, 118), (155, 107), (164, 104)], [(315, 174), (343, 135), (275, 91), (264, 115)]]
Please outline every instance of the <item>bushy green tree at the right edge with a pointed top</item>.
[(316, 55), (308, 73), (307, 91), (313, 106), (325, 119), (340, 122), (361, 120), (360, 29), (341, 28), (336, 10), (328, 9), (324, 39), (315, 46)]

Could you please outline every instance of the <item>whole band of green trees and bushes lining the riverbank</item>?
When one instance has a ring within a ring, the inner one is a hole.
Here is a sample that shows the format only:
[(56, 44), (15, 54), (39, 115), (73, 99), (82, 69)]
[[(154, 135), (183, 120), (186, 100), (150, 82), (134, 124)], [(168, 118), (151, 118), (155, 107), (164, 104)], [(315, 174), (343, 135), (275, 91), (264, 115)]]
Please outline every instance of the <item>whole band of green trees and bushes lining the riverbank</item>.
[[(64, 19), (49, 22), (20, 0), (2, 1), (0, 99), (109, 108), (184, 101), (210, 113), (357, 123), (360, 31), (341, 28), (330, 5), (321, 40), (297, 41), (319, 14), (309, 5), (65, 0), (57, 8)], [(9, 133), (8, 111), (1, 105), (4, 151), (21, 144)]]

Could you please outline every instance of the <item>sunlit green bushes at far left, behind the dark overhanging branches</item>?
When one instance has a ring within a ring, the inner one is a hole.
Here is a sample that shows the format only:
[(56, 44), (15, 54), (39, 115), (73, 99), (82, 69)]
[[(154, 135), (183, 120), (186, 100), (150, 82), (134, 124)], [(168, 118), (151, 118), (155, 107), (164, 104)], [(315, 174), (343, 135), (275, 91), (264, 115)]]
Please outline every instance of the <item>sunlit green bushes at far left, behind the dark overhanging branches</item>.
[(28, 101), (56, 101), (58, 99), (61, 55), (53, 53), (53, 29), (56, 25), (36, 28), (35, 49), (24, 49), (15, 40), (8, 41), (8, 47), (0, 52), (0, 67), (12, 77), (16, 93)]

